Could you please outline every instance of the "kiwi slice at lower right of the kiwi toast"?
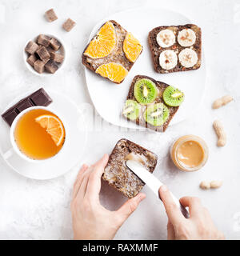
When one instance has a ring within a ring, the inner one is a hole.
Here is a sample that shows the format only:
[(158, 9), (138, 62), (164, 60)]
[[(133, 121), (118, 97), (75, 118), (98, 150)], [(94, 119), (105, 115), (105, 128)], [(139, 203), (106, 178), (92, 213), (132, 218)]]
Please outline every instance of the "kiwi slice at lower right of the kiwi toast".
[(169, 117), (169, 110), (163, 103), (153, 104), (146, 108), (143, 117), (152, 126), (162, 126)]

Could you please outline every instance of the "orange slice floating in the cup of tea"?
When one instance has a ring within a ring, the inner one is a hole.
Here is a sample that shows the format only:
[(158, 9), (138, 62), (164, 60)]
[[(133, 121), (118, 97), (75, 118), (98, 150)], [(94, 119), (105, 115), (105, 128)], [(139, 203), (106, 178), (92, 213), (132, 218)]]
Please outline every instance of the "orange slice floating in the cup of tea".
[(59, 146), (63, 142), (65, 129), (59, 118), (51, 114), (43, 114), (38, 118), (35, 118), (35, 121), (38, 122), (38, 124), (42, 126), (48, 134), (50, 134), (56, 146)]

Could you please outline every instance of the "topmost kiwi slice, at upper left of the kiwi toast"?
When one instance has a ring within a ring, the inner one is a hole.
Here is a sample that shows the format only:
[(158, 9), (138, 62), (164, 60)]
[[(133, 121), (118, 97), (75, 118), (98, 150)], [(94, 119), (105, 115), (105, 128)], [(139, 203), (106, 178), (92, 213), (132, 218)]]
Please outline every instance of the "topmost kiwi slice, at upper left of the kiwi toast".
[(143, 105), (154, 102), (158, 95), (157, 86), (150, 79), (142, 78), (134, 85), (134, 97)]

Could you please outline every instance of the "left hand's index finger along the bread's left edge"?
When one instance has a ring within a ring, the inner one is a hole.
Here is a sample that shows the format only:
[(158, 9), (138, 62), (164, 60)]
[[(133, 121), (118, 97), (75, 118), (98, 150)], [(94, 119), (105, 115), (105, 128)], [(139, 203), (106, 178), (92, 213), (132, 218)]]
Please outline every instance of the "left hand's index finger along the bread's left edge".
[(86, 188), (86, 196), (91, 200), (99, 200), (99, 193), (101, 190), (101, 177), (104, 172), (104, 168), (108, 162), (108, 155), (104, 154), (95, 165), (94, 170), (90, 174), (89, 182)]

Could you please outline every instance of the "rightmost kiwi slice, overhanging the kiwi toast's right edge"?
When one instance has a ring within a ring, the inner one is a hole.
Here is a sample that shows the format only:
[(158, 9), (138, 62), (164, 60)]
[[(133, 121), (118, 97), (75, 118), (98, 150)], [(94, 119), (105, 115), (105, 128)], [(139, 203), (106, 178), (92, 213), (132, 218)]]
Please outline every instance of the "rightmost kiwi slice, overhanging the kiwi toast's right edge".
[(168, 86), (162, 94), (163, 100), (168, 106), (180, 106), (184, 100), (184, 94), (174, 86)]

